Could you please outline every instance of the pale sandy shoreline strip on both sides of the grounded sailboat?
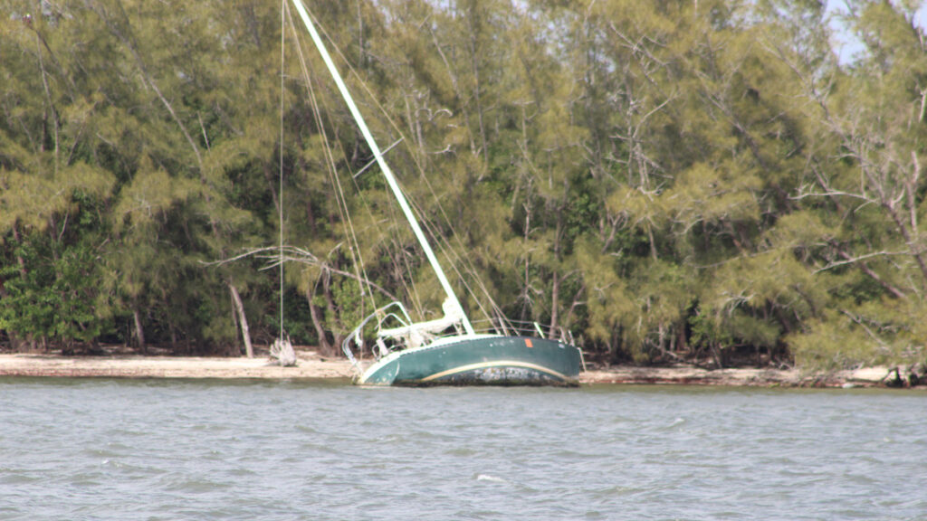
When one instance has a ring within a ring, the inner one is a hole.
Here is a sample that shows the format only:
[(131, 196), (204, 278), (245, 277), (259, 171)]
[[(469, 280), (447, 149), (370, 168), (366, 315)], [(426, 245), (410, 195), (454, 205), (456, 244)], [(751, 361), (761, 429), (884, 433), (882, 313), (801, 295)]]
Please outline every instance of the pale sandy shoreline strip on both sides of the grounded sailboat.
[[(266, 356), (179, 357), (110, 354), (62, 356), (59, 354), (0, 353), (0, 377), (109, 377), (109, 378), (216, 378), (216, 379), (343, 379), (353, 375), (345, 359), (320, 357), (312, 350), (297, 350), (298, 365), (281, 367)], [(579, 375), (580, 385), (649, 384), (762, 388), (888, 388), (910, 387), (895, 380), (890, 367), (809, 374), (798, 369), (730, 368), (708, 370), (692, 365), (670, 367), (589, 367)], [(904, 377), (904, 373), (901, 373)], [(900, 385), (899, 385), (900, 384)], [(917, 386), (925, 388), (924, 385)]]

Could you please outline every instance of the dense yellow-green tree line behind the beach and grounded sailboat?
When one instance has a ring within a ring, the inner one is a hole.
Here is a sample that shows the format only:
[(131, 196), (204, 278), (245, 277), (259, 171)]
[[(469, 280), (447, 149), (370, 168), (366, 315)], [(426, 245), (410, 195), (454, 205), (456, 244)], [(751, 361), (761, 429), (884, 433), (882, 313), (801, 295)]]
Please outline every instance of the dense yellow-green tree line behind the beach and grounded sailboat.
[[(919, 3), (821, 4), (309, 7), (381, 146), (401, 140), (388, 160), (471, 314), (570, 330), (610, 361), (923, 361)], [(323, 349), (390, 296), (438, 312), (279, 2), (0, 6), (9, 349), (238, 352), (243, 331), (277, 335), (281, 288), (288, 334)], [(281, 205), (303, 253), (283, 284), (260, 256), (213, 263), (276, 244)]]

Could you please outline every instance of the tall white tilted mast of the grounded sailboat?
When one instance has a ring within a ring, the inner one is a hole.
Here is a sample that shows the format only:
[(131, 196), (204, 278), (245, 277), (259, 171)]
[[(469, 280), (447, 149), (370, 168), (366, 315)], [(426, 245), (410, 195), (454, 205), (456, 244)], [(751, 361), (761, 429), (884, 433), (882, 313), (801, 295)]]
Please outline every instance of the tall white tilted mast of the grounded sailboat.
[(435, 252), (431, 249), (431, 245), (428, 244), (428, 239), (425, 238), (425, 233), (422, 232), (421, 226), (419, 226), (418, 221), (415, 219), (412, 208), (409, 207), (409, 202), (402, 194), (400, 185), (396, 182), (396, 178), (393, 176), (393, 172), (389, 169), (389, 165), (387, 165), (386, 159), (383, 159), (383, 155), (380, 152), (380, 147), (376, 145), (373, 134), (370, 133), (370, 129), (367, 128), (367, 123), (363, 121), (361, 111), (358, 110), (357, 106), (354, 104), (354, 98), (351, 97), (350, 93), (348, 92), (348, 87), (341, 79), (341, 74), (338, 73), (338, 70), (335, 67), (335, 62), (333, 62), (332, 58), (328, 55), (328, 51), (325, 49), (325, 45), (322, 42), (322, 37), (319, 36), (319, 33), (315, 31), (315, 27), (312, 25), (311, 19), (309, 18), (309, 13), (306, 12), (306, 7), (302, 5), (302, 0), (293, 0), (293, 6), (296, 7), (296, 10), (299, 12), (299, 18), (301, 18), (302, 22), (306, 25), (306, 29), (309, 31), (312, 37), (312, 42), (315, 44), (316, 48), (319, 49), (319, 53), (322, 55), (322, 59), (324, 59), (325, 67), (328, 68), (328, 71), (335, 79), (338, 91), (341, 93), (341, 96), (344, 97), (345, 102), (348, 104), (348, 108), (350, 109), (351, 115), (354, 117), (354, 121), (357, 121), (357, 126), (361, 128), (361, 133), (363, 134), (363, 138), (367, 141), (367, 146), (370, 146), (370, 150), (374, 153), (376, 163), (380, 166), (380, 170), (383, 172), (384, 177), (387, 178), (387, 184), (389, 184), (389, 189), (392, 190), (393, 196), (396, 197), (397, 201), (399, 201), (402, 213), (405, 214), (406, 219), (412, 226), (412, 231), (415, 234), (415, 238), (418, 239), (418, 243), (422, 245), (422, 249), (425, 250), (425, 257), (428, 258), (428, 263), (431, 264), (431, 269), (434, 270), (436, 275), (438, 275), (438, 282), (440, 282), (441, 287), (444, 288), (444, 293), (448, 296), (448, 299), (451, 299), (451, 303), (461, 311), (461, 316), (463, 317), (461, 322), (464, 324), (464, 329), (466, 330), (467, 334), (474, 335), (475, 332), (473, 325), (470, 324), (470, 319), (467, 318), (466, 313), (464, 312), (464, 307), (461, 306), (460, 300), (457, 299), (457, 294), (454, 293), (454, 289), (451, 287), (451, 283), (448, 282), (448, 277), (444, 274), (444, 270), (441, 269), (441, 265), (438, 263), (438, 258), (435, 256)]

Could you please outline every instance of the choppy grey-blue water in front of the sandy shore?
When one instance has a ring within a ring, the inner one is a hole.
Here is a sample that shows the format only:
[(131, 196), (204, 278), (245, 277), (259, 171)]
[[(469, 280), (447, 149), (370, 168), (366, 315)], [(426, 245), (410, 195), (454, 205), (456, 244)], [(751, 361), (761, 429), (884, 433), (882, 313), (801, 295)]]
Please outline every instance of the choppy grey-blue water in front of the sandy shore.
[(927, 519), (927, 396), (0, 379), (0, 520)]

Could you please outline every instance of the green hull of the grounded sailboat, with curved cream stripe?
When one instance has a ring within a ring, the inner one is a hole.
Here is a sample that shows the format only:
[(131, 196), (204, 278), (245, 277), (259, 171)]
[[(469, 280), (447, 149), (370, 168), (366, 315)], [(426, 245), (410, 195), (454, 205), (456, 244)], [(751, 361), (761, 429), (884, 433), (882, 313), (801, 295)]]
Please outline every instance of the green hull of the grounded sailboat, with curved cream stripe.
[(579, 349), (545, 338), (453, 337), (390, 353), (368, 369), (362, 385), (576, 386)]

